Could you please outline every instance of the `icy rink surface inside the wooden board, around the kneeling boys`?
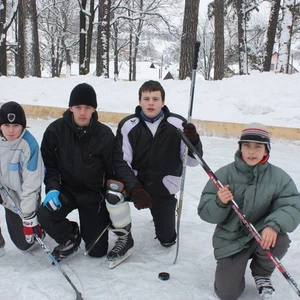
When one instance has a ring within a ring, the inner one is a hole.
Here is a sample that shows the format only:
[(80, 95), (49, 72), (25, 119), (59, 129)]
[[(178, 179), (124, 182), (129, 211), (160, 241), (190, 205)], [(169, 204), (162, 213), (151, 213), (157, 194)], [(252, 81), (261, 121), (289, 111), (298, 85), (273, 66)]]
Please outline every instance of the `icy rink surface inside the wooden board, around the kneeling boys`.
[[(31, 132), (40, 141), (43, 130), (50, 123), (29, 120)], [(114, 128), (115, 129), (115, 128)], [(216, 137), (202, 137), (204, 160), (215, 171), (232, 161), (237, 140)], [(300, 189), (299, 146), (292, 142), (273, 142), (270, 162), (286, 170)], [(211, 246), (214, 226), (203, 222), (197, 215), (199, 196), (208, 180), (206, 173), (198, 166), (187, 168), (183, 214), (180, 230), (180, 251), (174, 265), (175, 247), (163, 248), (154, 239), (154, 227), (149, 211), (132, 208), (134, 253), (131, 258), (116, 269), (108, 269), (107, 259), (95, 259), (80, 252), (62, 262), (68, 274), (85, 300), (209, 300), (213, 297), (215, 260)], [(77, 213), (70, 217), (77, 220)], [(1, 300), (69, 300), (75, 299), (75, 292), (44, 250), (38, 246), (32, 253), (20, 252), (10, 241), (0, 209), (2, 232), (6, 239), (6, 255), (0, 258)], [(292, 244), (282, 263), (293, 279), (300, 284), (300, 229), (290, 237)], [(115, 236), (110, 235), (110, 247)], [(45, 244), (51, 250), (56, 245), (48, 236)], [(169, 281), (158, 279), (158, 273), (170, 273)], [(246, 273), (247, 286), (240, 299), (259, 299), (249, 270)], [(276, 269), (273, 275), (276, 288), (275, 299), (298, 299), (286, 279)]]

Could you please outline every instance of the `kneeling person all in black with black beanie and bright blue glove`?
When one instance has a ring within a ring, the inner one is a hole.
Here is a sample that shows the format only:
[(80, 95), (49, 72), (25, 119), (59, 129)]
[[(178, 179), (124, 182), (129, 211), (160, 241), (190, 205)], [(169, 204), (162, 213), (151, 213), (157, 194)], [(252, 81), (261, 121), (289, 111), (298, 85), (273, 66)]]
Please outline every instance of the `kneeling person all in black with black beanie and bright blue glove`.
[[(41, 151), (46, 167), (46, 197), (38, 218), (59, 244), (53, 255), (61, 260), (76, 252), (81, 236), (86, 245), (110, 222), (104, 203), (106, 179), (112, 176), (114, 135), (98, 121), (92, 86), (83, 83), (71, 92), (69, 109), (46, 129)], [(80, 230), (67, 215), (78, 209)], [(107, 254), (108, 233), (89, 252)]]

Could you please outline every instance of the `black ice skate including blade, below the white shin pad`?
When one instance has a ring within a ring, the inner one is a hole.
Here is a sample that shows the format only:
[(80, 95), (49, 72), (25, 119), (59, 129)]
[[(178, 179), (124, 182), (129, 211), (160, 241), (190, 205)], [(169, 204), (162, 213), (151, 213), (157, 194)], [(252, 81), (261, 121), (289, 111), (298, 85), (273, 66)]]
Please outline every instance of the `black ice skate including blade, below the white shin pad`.
[(110, 269), (115, 268), (131, 256), (134, 241), (130, 229), (131, 224), (127, 225), (125, 228), (111, 229), (118, 236), (118, 239), (115, 246), (107, 254), (107, 259), (109, 260), (108, 267)]

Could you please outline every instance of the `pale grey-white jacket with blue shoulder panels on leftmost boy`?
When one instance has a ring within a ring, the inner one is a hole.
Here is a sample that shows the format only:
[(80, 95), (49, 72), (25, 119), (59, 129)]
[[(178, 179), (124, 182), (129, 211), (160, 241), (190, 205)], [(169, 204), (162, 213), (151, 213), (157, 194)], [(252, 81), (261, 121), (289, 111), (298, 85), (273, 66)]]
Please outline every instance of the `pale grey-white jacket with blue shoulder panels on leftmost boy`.
[[(43, 178), (39, 145), (27, 129), (14, 141), (0, 138), (0, 183), (24, 217), (31, 216), (40, 205)], [(1, 198), (2, 205), (16, 213), (3, 193)]]

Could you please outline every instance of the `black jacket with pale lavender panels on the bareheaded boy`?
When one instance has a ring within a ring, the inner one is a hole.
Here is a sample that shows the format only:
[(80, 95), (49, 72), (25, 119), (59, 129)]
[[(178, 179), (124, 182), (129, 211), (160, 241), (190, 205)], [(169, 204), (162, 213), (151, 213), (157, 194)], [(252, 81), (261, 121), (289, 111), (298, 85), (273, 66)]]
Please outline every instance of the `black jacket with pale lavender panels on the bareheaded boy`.
[[(113, 157), (116, 178), (128, 192), (143, 186), (152, 197), (167, 197), (179, 191), (182, 175), (184, 143), (176, 133), (186, 120), (163, 107), (164, 116), (155, 135), (141, 117), (141, 107), (118, 125)], [(202, 144), (196, 145), (202, 154)], [(196, 166), (188, 156), (188, 166)]]

